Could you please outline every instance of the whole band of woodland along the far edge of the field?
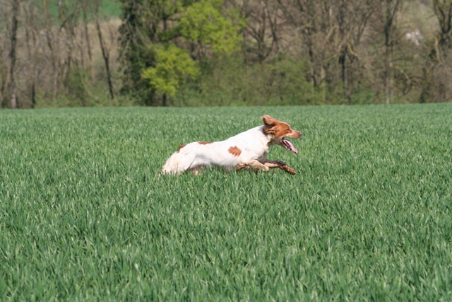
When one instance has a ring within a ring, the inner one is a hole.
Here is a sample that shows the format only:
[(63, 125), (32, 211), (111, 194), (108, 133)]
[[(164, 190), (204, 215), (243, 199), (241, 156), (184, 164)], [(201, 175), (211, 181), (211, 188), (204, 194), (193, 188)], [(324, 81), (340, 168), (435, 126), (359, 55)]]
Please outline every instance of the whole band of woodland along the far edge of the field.
[(0, 0), (1, 107), (451, 100), (452, 0), (106, 3)]

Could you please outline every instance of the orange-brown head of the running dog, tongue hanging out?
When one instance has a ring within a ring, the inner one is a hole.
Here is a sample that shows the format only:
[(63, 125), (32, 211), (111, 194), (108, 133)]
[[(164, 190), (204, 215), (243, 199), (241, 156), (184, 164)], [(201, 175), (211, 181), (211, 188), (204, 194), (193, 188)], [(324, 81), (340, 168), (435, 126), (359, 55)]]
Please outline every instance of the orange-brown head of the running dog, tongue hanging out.
[(273, 136), (270, 140), (270, 144), (278, 144), (283, 146), (285, 149), (294, 151), (295, 154), (298, 154), (298, 150), (292, 142), (287, 139), (287, 137), (290, 137), (291, 139), (299, 139), (299, 137), (302, 136), (302, 132), (290, 128), (289, 124), (276, 120), (275, 118), (270, 117), (270, 115), (264, 115), (262, 117), (262, 122), (263, 133)]

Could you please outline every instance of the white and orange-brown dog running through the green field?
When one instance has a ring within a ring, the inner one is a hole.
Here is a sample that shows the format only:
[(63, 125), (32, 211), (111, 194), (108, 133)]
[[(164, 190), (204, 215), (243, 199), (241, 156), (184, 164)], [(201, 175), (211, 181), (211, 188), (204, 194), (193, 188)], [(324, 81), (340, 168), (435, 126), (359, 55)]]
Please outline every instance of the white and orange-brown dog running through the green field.
[(207, 167), (232, 170), (254, 170), (268, 172), (269, 168), (280, 168), (296, 174), (283, 161), (270, 161), (267, 154), (270, 146), (280, 145), (298, 154), (287, 138), (299, 139), (302, 132), (293, 130), (289, 124), (269, 115), (262, 117), (263, 125), (239, 133), (225, 141), (196, 141), (179, 146), (163, 165), (162, 174), (180, 175), (185, 171), (198, 174)]

